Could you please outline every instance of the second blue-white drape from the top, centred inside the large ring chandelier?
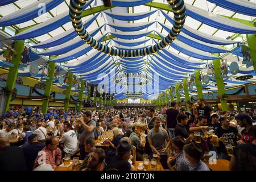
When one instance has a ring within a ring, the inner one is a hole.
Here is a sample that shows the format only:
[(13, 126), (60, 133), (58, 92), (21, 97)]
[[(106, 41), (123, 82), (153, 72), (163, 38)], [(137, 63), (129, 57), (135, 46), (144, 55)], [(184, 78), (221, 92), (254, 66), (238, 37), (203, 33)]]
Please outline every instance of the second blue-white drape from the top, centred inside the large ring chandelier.
[(150, 11), (150, 12), (142, 12), (142, 13), (109, 13), (104, 11), (104, 13), (114, 19), (123, 20), (123, 21), (134, 21), (134, 20), (146, 18), (156, 13), (156, 11), (157, 10)]

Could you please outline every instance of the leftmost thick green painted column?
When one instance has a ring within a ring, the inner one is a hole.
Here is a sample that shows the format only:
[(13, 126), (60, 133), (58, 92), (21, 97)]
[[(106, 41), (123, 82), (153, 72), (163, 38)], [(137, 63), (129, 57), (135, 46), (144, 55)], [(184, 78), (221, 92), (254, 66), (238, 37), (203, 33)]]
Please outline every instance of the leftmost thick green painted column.
[[(21, 31), (16, 31), (16, 34), (18, 34)], [(16, 55), (11, 57), (11, 63), (14, 64), (14, 67), (10, 67), (9, 73), (7, 76), (7, 81), (6, 81), (6, 86), (8, 90), (13, 90), (16, 82), (16, 78), (18, 76), (18, 71), (19, 71), (19, 64), (21, 61), (21, 54), (24, 50), (24, 40), (18, 40), (15, 42), (14, 45), (14, 50), (16, 52)], [(5, 104), (5, 112), (9, 110), (10, 102), (11, 102), (11, 97), (13, 94), (8, 94), (6, 96), (6, 104)]]

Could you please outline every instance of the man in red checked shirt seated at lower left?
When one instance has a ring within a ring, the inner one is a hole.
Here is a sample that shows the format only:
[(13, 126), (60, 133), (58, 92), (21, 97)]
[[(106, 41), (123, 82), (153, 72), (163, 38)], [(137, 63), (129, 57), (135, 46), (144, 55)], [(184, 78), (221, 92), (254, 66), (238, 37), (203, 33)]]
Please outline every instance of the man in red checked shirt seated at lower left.
[(55, 169), (60, 164), (61, 160), (61, 150), (57, 146), (59, 146), (59, 138), (56, 136), (47, 138), (46, 147), (38, 152), (34, 168), (41, 164), (51, 164), (52, 168)]

